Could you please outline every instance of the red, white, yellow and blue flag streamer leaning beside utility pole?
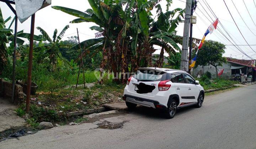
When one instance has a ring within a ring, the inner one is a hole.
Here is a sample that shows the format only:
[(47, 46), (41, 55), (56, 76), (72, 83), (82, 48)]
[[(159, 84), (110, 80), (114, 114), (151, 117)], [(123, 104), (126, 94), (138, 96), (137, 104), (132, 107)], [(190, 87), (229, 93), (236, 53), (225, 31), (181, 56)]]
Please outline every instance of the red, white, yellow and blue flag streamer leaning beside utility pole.
[(202, 48), (203, 46), (203, 43), (204, 43), (204, 39), (206, 38), (206, 36), (210, 33), (212, 34), (214, 29), (217, 28), (217, 24), (219, 23), (218, 19), (216, 19), (209, 27), (208, 29), (206, 30), (206, 32), (204, 33), (204, 36), (201, 40), (201, 43), (199, 44), (198, 46), (198, 49), (197, 49), (197, 52), (196, 52), (196, 56), (191, 60), (191, 65), (190, 67), (194, 67), (195, 64), (196, 64), (196, 58), (197, 58), (197, 53), (198, 53), (198, 50)]

